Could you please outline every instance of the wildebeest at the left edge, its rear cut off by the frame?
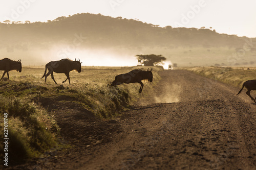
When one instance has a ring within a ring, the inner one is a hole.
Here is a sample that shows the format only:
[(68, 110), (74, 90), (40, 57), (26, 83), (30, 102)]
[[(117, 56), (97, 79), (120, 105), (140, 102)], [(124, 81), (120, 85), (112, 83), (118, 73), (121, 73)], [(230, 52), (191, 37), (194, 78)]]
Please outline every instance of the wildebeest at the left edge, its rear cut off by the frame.
[(13, 61), (9, 58), (4, 58), (4, 59), (0, 60), (0, 70), (4, 70), (4, 74), (3, 74), (2, 78), (0, 79), (0, 81), (3, 79), (5, 74), (7, 74), (8, 80), (10, 80), (9, 79), (9, 71), (11, 71), (11, 70), (17, 70), (19, 72), (22, 72), (21, 61), (22, 60)]

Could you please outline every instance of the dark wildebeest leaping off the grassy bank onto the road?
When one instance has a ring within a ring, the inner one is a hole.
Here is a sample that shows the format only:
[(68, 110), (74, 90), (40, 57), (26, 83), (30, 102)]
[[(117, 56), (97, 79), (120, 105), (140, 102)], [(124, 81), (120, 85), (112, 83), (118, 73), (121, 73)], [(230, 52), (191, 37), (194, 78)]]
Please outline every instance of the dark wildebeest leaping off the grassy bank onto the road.
[(121, 75), (117, 75), (115, 77), (115, 80), (111, 83), (110, 86), (116, 86), (122, 83), (139, 83), (140, 89), (139, 89), (139, 93), (142, 92), (143, 86), (144, 84), (141, 82), (142, 80), (147, 80), (149, 82), (153, 81), (153, 74), (152, 74), (152, 68), (151, 70), (149, 70), (150, 68), (146, 70), (142, 70), (142, 69), (134, 69), (130, 72), (127, 72), (126, 74), (121, 74)]

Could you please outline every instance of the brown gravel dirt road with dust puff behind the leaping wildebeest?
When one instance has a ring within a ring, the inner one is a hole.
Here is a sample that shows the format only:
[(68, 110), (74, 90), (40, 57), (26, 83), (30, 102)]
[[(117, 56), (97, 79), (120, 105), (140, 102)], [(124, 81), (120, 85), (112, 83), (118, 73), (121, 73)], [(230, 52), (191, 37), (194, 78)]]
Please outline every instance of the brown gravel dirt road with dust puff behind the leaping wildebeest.
[(256, 105), (245, 90), (236, 96), (239, 88), (184, 70), (161, 77), (152, 96), (116, 122), (84, 122), (82, 110), (59, 112), (62, 136), (75, 148), (50, 153), (31, 167), (256, 169)]

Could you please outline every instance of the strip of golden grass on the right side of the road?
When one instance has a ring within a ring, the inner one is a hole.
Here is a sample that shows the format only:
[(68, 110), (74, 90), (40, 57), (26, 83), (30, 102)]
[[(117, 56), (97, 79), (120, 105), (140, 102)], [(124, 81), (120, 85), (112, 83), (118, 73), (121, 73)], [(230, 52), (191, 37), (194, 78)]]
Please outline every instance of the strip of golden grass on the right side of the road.
[(187, 67), (184, 69), (234, 87), (242, 87), (245, 81), (256, 79), (256, 69), (247, 69), (247, 67)]

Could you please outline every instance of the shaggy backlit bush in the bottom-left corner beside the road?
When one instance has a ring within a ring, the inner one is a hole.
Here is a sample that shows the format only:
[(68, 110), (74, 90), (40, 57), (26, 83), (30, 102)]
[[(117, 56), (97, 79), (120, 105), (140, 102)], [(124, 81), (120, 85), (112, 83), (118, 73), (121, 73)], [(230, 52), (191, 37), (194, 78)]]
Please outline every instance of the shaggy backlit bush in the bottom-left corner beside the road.
[[(8, 156), (11, 164), (38, 157), (58, 145), (58, 126), (45, 109), (21, 98), (0, 96), (1, 129), (4, 129), (4, 113), (8, 113)], [(3, 130), (1, 136), (4, 136)], [(4, 151), (2, 143), (0, 150)], [(4, 157), (3, 152), (1, 157)]]

